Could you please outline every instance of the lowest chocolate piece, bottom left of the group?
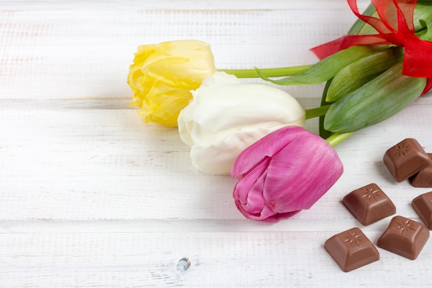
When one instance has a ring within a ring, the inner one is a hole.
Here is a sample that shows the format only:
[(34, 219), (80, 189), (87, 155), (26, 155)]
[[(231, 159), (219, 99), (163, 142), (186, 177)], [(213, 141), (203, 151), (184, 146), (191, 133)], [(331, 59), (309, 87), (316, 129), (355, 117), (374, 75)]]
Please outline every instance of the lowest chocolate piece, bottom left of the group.
[(371, 240), (357, 227), (328, 238), (324, 249), (344, 272), (380, 260), (380, 253)]

